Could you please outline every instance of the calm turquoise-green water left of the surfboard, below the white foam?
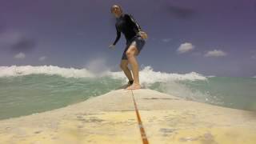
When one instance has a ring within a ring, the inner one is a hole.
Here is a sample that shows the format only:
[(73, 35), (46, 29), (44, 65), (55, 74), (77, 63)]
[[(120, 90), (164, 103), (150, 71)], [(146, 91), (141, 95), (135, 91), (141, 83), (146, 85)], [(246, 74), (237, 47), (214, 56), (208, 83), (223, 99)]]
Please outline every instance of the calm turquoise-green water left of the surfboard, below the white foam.
[(82, 102), (120, 86), (121, 80), (62, 78), (30, 74), (0, 78), (0, 119), (34, 114)]

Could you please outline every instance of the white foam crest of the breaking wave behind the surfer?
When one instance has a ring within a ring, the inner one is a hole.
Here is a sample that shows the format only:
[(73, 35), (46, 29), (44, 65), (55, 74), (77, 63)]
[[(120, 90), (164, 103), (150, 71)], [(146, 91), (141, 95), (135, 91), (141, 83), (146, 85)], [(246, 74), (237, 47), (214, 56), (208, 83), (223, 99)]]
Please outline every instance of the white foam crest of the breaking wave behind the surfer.
[[(58, 74), (65, 78), (93, 78), (99, 76), (90, 70), (63, 68), (58, 66), (0, 66), (0, 77), (20, 76), (28, 74)], [(122, 71), (111, 72), (106, 70), (100, 76), (110, 76), (112, 78), (126, 79)], [(202, 74), (191, 72), (188, 74), (174, 74), (154, 71), (151, 66), (146, 66), (139, 72), (140, 82), (154, 83), (154, 82), (168, 82), (171, 80), (206, 80)]]

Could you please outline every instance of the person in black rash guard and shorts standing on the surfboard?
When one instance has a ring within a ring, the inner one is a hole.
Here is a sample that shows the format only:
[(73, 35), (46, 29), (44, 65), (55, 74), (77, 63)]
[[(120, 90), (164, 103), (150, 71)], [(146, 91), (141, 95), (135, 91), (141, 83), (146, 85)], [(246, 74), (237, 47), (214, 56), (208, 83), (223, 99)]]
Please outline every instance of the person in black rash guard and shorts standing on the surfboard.
[[(128, 87), (126, 90), (137, 90), (141, 86), (139, 84), (138, 78), (138, 62), (135, 56), (138, 56), (142, 47), (145, 44), (147, 34), (142, 31), (141, 27), (137, 22), (134, 21), (134, 18), (131, 14), (122, 13), (121, 6), (114, 5), (111, 7), (111, 13), (114, 14), (117, 22), (115, 23), (115, 28), (117, 30), (117, 37), (114, 40), (114, 43), (110, 45), (110, 48), (114, 48), (115, 44), (118, 42), (121, 32), (126, 37), (126, 49), (122, 54), (122, 61), (120, 63), (121, 69), (126, 74), (128, 78)], [(131, 64), (132, 73), (134, 78), (130, 73), (128, 68), (128, 63)]]

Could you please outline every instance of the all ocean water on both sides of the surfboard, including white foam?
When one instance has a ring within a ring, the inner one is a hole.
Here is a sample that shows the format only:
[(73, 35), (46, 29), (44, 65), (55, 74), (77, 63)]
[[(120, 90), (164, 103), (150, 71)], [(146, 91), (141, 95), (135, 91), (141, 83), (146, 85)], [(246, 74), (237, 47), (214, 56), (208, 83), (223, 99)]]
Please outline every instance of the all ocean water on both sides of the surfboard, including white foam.
[[(106, 94), (127, 82), (122, 71), (95, 74), (58, 66), (0, 66), (0, 119), (53, 110)], [(142, 86), (196, 102), (256, 111), (256, 78), (140, 70)]]

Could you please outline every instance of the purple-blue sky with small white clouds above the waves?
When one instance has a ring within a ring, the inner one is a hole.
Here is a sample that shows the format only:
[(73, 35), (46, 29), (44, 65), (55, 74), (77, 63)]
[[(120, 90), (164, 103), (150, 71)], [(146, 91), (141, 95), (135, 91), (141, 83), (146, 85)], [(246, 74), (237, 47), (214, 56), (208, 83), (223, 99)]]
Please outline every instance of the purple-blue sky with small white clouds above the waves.
[(148, 34), (141, 68), (186, 74), (256, 75), (256, 0), (1, 0), (0, 66), (120, 70), (114, 4)]

